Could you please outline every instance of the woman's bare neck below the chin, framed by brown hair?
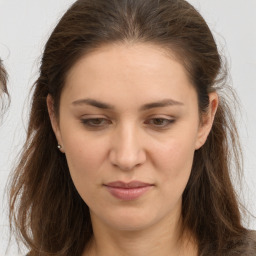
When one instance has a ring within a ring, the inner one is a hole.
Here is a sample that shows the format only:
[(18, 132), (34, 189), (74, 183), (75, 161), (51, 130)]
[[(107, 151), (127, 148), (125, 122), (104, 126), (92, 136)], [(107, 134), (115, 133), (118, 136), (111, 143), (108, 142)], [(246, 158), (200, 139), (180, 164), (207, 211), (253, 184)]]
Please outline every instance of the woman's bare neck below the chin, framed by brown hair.
[[(92, 217), (92, 220), (94, 217)], [(196, 256), (196, 242), (181, 234), (181, 220), (162, 220), (144, 230), (115, 230), (92, 221), (94, 236), (82, 256)], [(166, 224), (168, 223), (168, 225)]]

